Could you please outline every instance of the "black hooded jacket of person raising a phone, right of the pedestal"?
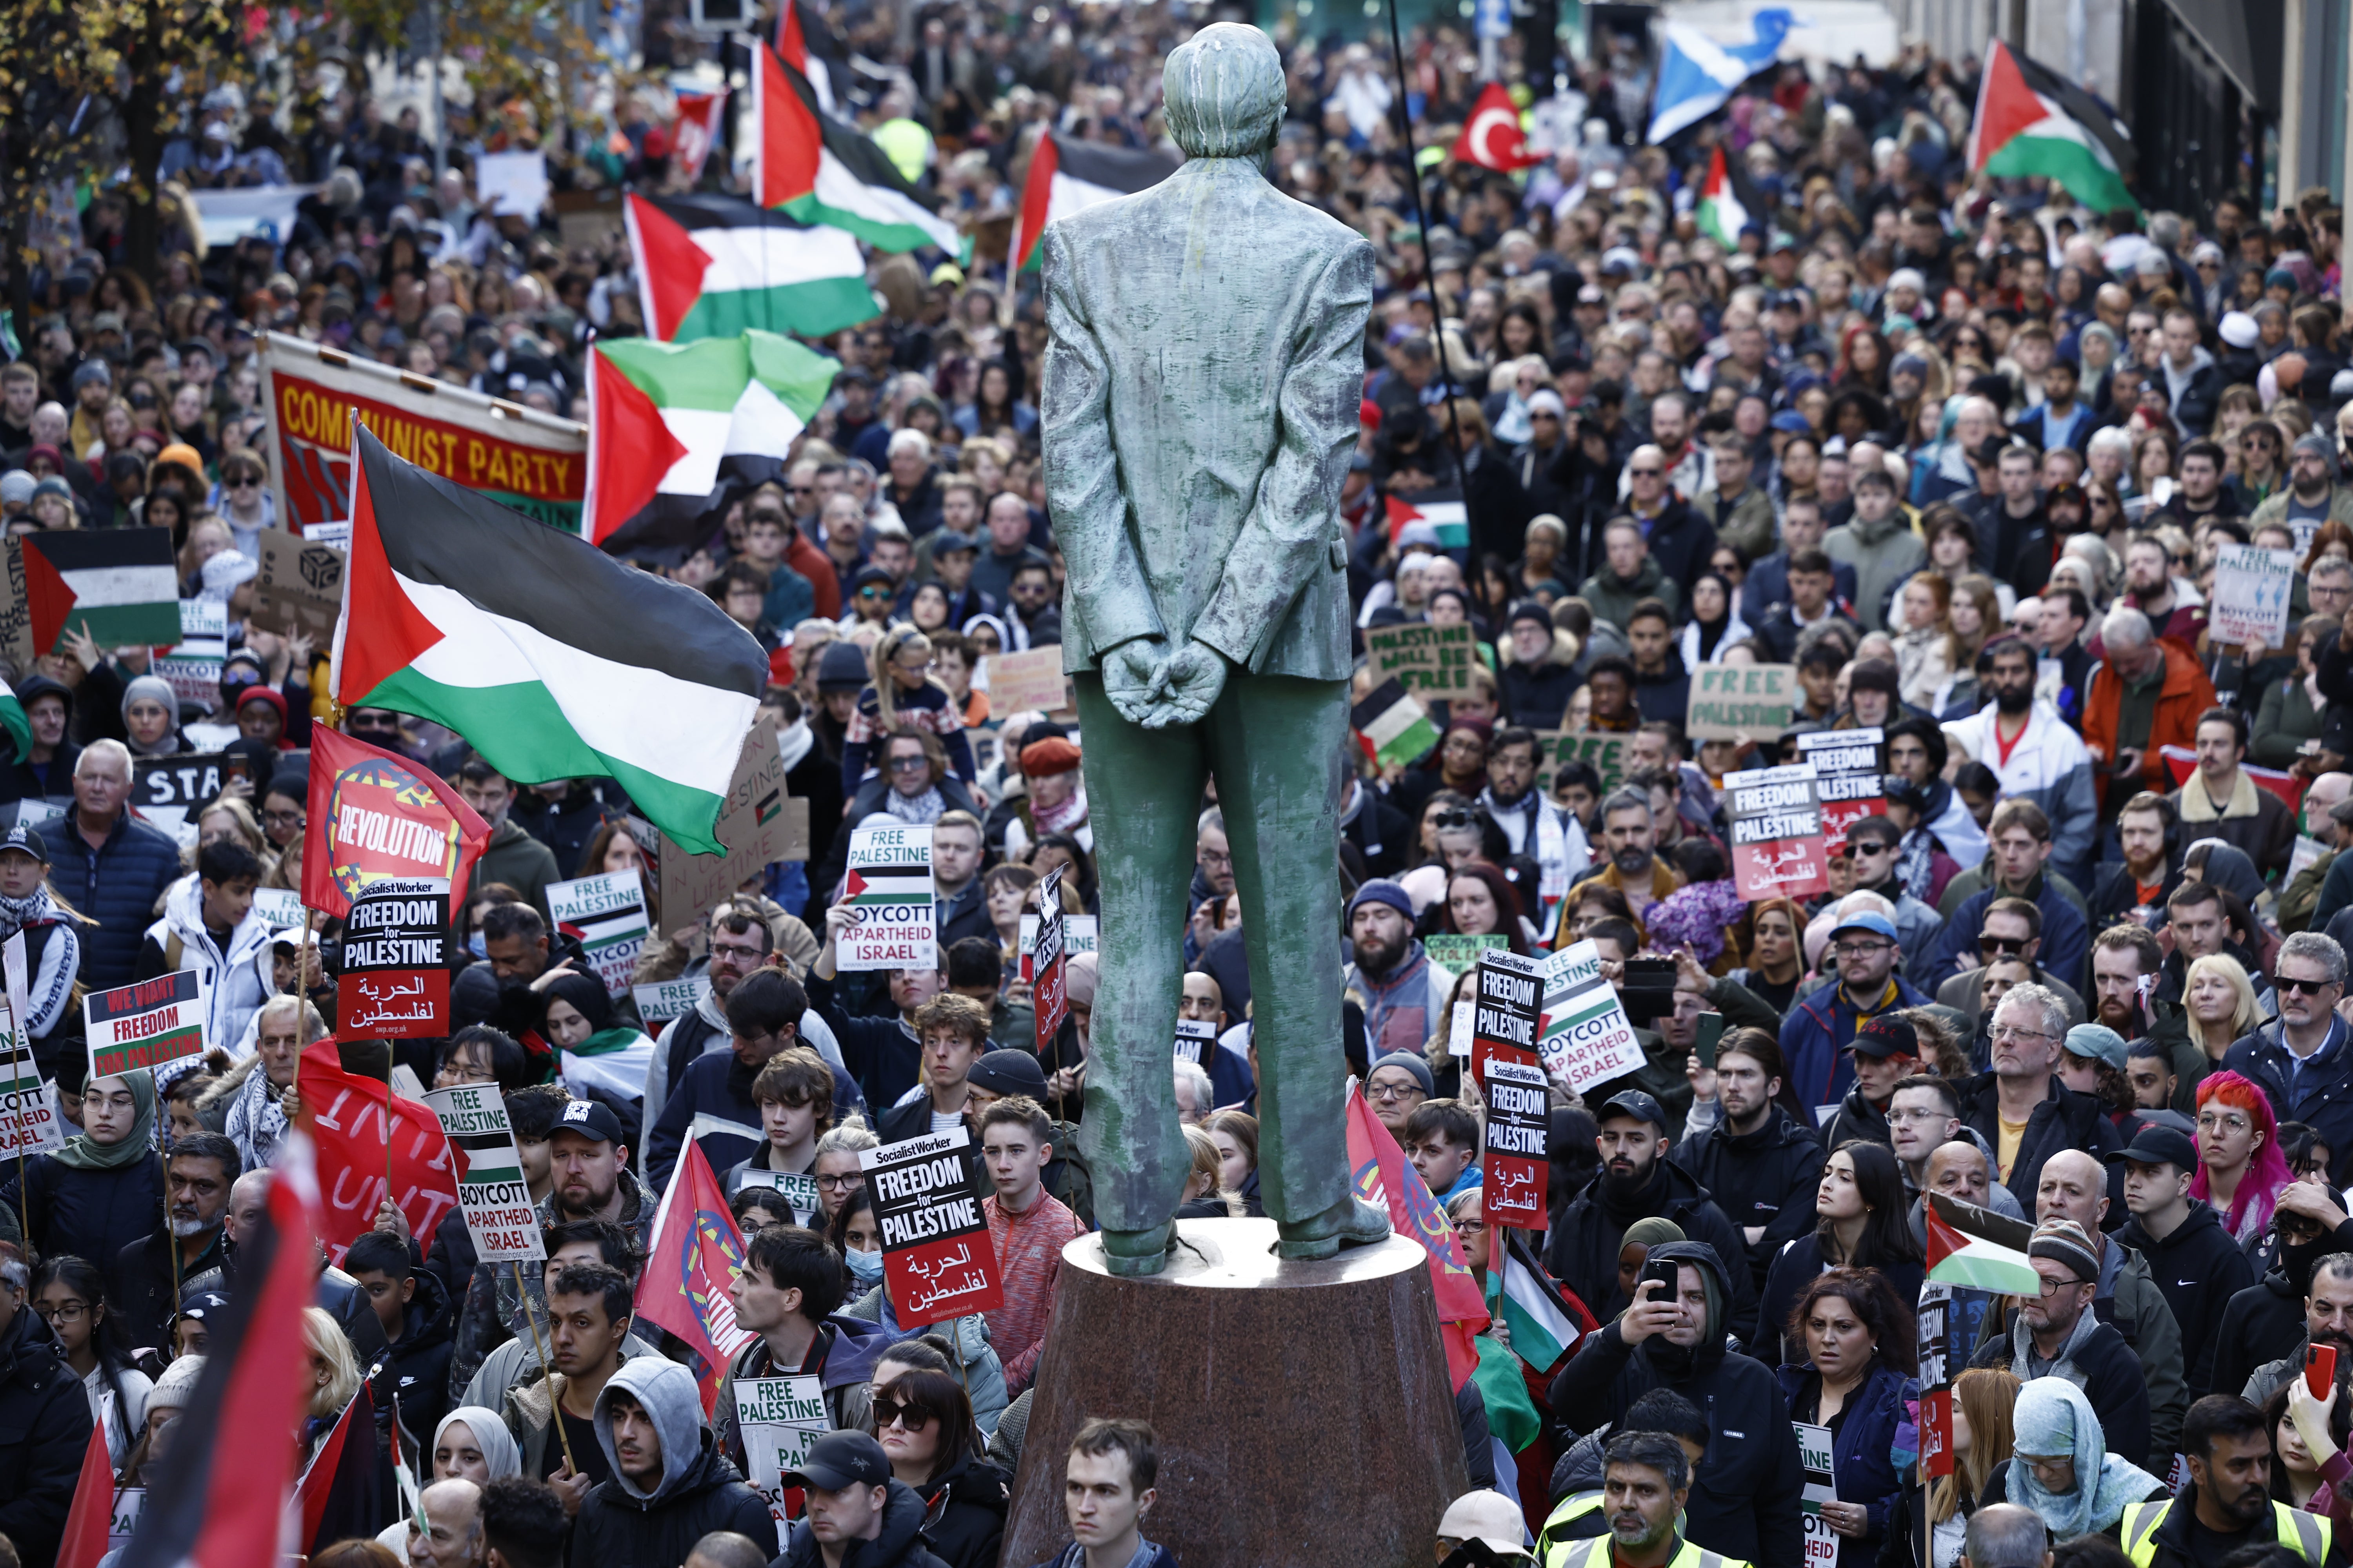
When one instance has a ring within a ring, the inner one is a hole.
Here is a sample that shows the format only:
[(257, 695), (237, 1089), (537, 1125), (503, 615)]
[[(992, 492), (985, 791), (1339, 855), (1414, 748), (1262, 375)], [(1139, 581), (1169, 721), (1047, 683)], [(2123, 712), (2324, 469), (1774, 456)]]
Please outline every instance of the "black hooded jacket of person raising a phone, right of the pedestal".
[[(1708, 1450), (1685, 1505), (1687, 1537), (1744, 1563), (1798, 1563), (1805, 1474), (1788, 1399), (1760, 1361), (1725, 1349), (1725, 1267), (1697, 1241), (1649, 1251), (1654, 1260), (1687, 1262), (1708, 1281), (1708, 1324), (1692, 1347), (1661, 1338), (1628, 1345), (1619, 1324), (1588, 1333), (1553, 1378), (1551, 1403), (1579, 1413), (1581, 1425), (1619, 1422), (1649, 1389), (1673, 1389), (1708, 1420)], [(1612, 1269), (1614, 1269), (1612, 1253)]]

